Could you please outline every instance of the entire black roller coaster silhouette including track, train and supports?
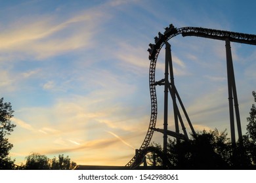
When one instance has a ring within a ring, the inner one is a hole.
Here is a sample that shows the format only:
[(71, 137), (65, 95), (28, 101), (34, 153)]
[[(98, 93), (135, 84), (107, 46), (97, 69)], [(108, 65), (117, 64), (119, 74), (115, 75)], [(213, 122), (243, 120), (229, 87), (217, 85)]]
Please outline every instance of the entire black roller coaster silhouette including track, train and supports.
[[(236, 124), (238, 130), (238, 137), (242, 137), (242, 128), (240, 122), (240, 113), (238, 108), (238, 97), (236, 93), (236, 82), (234, 77), (234, 68), (232, 63), (232, 54), (230, 42), (240, 42), (244, 44), (253, 44), (256, 45), (256, 35), (246, 34), (246, 33), (236, 33), (231, 31), (222, 31), (217, 29), (207, 29), (202, 27), (181, 27), (176, 28), (173, 24), (170, 24), (169, 27), (165, 28), (164, 33), (158, 33), (158, 37), (155, 37), (155, 44), (149, 44), (148, 48), (149, 59), (150, 59), (150, 69), (149, 69), (149, 86), (150, 86), (150, 99), (151, 99), (151, 116), (150, 124), (148, 126), (148, 131), (146, 137), (142, 142), (142, 145), (138, 150), (136, 150), (135, 156), (127, 163), (126, 166), (129, 166), (131, 169), (135, 169), (142, 163), (143, 158), (149, 152), (158, 154), (158, 156), (163, 160), (164, 166), (167, 166), (169, 161), (166, 158), (165, 154), (167, 153), (167, 136), (175, 137), (177, 139), (188, 140), (188, 134), (186, 133), (186, 128), (184, 121), (181, 118), (181, 112), (177, 105), (179, 102), (182, 112), (186, 117), (186, 121), (190, 126), (190, 129), (193, 134), (194, 131), (193, 125), (190, 122), (188, 113), (181, 101), (181, 97), (175, 87), (174, 77), (173, 77), (173, 63), (171, 58), (171, 45), (169, 40), (177, 35), (186, 36), (196, 36), (204, 37), (208, 39), (217, 39), (225, 41), (226, 43), (226, 66), (227, 66), (227, 80), (228, 80), (228, 103), (229, 103), (229, 116), (230, 116), (230, 135), (231, 142), (234, 144), (236, 142), (235, 137), (235, 120), (234, 113), (236, 116)], [(165, 45), (165, 73), (164, 78), (160, 81), (155, 80), (156, 74), (156, 62), (158, 60), (158, 54), (160, 54), (161, 48)], [(164, 86), (164, 111), (163, 111), (163, 129), (156, 129), (156, 119), (158, 115), (158, 103), (156, 96), (156, 86)], [(168, 93), (171, 95), (173, 101), (173, 113), (175, 121), (175, 131), (170, 131), (167, 129), (167, 118), (168, 118)], [(179, 125), (182, 127), (183, 133), (179, 132)], [(152, 139), (154, 131), (163, 133), (163, 151), (149, 146)]]

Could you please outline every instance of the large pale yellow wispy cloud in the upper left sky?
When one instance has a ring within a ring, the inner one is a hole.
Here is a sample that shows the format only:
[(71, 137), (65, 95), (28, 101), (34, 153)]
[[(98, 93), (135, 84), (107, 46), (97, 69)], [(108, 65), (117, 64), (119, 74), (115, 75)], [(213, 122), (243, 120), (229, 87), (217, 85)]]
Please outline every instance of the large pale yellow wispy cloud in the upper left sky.
[(95, 26), (102, 17), (100, 12), (92, 13), (80, 12), (64, 21), (58, 20), (58, 15), (42, 16), (39, 20), (30, 18), (30, 21), (22, 18), (23, 22), (12, 24), (0, 33), (1, 52), (43, 59), (92, 46)]

